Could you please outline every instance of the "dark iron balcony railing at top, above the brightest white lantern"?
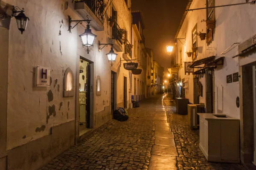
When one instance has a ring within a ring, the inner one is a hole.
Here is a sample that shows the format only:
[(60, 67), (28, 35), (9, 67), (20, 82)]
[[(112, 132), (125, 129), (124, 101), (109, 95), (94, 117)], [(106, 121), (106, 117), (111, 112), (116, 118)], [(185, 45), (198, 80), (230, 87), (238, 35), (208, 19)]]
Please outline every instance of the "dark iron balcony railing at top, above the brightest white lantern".
[(79, 2), (84, 2), (93, 12), (93, 14), (95, 14), (96, 17), (100, 20), (100, 22), (103, 23), (104, 8), (106, 6), (104, 0), (81, 0)]

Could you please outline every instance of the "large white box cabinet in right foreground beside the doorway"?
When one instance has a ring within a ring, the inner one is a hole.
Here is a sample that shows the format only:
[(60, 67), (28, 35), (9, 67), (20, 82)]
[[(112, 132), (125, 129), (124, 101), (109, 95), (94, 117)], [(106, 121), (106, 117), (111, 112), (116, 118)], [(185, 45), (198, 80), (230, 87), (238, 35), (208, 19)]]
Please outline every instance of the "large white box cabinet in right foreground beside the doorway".
[(200, 144), (207, 161), (240, 162), (239, 119), (225, 114), (198, 113)]

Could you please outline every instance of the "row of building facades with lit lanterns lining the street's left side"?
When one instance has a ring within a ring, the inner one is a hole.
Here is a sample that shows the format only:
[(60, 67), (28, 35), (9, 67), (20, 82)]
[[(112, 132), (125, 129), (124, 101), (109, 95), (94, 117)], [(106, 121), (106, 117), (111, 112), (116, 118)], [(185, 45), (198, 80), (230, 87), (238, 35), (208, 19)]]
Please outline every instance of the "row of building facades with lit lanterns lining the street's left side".
[[(23, 34), (10, 17), (13, 6), (29, 17)], [(131, 0), (0, 0), (0, 9), (1, 168), (38, 169), (118, 107), (131, 108), (132, 96), (144, 99), (146, 54)], [(89, 48), (79, 37), (87, 24), (97, 36)], [(123, 67), (131, 59), (142, 74)]]

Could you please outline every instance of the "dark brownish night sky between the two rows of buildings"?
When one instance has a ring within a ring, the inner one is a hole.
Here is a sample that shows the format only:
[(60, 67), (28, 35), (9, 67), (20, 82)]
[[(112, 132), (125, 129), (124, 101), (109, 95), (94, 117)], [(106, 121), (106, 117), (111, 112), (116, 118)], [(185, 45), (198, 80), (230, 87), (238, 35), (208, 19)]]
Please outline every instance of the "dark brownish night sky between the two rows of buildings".
[(145, 46), (154, 51), (154, 60), (170, 68), (166, 45), (175, 34), (188, 0), (131, 0), (132, 11), (143, 11)]

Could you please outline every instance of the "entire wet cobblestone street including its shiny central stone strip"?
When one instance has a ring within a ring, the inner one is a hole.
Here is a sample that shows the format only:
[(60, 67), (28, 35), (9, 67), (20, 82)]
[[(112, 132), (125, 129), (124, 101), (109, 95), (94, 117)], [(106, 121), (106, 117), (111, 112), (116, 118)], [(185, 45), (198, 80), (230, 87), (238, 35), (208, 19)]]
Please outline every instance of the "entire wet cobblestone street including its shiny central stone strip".
[(239, 164), (208, 163), (198, 131), (189, 129), (187, 116), (177, 115), (174, 105), (171, 95), (145, 99), (128, 110), (128, 121), (109, 121), (40, 170), (244, 170)]

